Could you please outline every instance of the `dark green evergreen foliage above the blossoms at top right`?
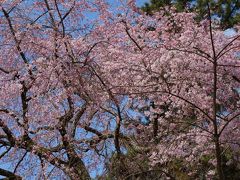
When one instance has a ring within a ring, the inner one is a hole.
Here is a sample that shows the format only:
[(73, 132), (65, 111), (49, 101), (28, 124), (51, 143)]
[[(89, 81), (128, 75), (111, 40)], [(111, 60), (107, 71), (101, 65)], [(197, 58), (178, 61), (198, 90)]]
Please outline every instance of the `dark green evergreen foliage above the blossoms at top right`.
[(178, 12), (196, 12), (196, 20), (202, 20), (208, 14), (208, 4), (212, 15), (220, 19), (222, 29), (231, 28), (240, 22), (239, 0), (151, 0), (142, 10), (152, 15), (155, 11), (171, 6)]

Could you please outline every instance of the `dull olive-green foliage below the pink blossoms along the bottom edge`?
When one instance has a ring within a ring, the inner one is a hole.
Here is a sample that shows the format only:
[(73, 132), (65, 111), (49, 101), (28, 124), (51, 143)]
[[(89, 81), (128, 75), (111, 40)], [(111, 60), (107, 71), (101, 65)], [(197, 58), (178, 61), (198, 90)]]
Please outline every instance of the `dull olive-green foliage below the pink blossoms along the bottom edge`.
[[(209, 170), (215, 171), (215, 166), (211, 163), (214, 154), (206, 154), (200, 157), (199, 161), (189, 163), (184, 158), (169, 159), (166, 164), (150, 165), (147, 154), (128, 148), (126, 154), (113, 154), (107, 163), (106, 174), (98, 179), (106, 180), (134, 180), (134, 179), (170, 179), (175, 180), (206, 180)], [(226, 150), (222, 155), (223, 171), (226, 179), (238, 180), (240, 177), (239, 162), (234, 160), (233, 153)], [(230, 162), (230, 163), (229, 163)], [(212, 176), (217, 180), (217, 174)]]

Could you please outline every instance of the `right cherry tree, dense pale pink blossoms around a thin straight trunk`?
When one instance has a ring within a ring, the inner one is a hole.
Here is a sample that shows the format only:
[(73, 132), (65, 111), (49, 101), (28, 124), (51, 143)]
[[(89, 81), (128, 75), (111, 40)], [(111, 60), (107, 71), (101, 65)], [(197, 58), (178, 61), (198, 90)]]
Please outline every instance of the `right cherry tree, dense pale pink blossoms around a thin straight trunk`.
[[(153, 165), (211, 156), (209, 177), (225, 179), (226, 164), (239, 165), (239, 34), (226, 36), (207, 15), (196, 23), (192, 13), (128, 11), (102, 31), (110, 43), (101, 62), (116, 94), (154, 104), (151, 126), (140, 128), (152, 129)], [(224, 162), (229, 151), (233, 159)]]

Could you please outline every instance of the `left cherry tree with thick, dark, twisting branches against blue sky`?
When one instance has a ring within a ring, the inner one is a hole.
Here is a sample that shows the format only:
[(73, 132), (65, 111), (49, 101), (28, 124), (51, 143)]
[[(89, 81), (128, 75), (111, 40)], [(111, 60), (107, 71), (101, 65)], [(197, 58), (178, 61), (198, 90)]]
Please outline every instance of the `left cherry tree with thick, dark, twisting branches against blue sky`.
[(101, 21), (85, 13), (106, 15), (107, 4), (1, 2), (1, 160), (14, 167), (1, 175), (90, 179), (104, 153), (120, 151), (119, 100), (88, 58)]

